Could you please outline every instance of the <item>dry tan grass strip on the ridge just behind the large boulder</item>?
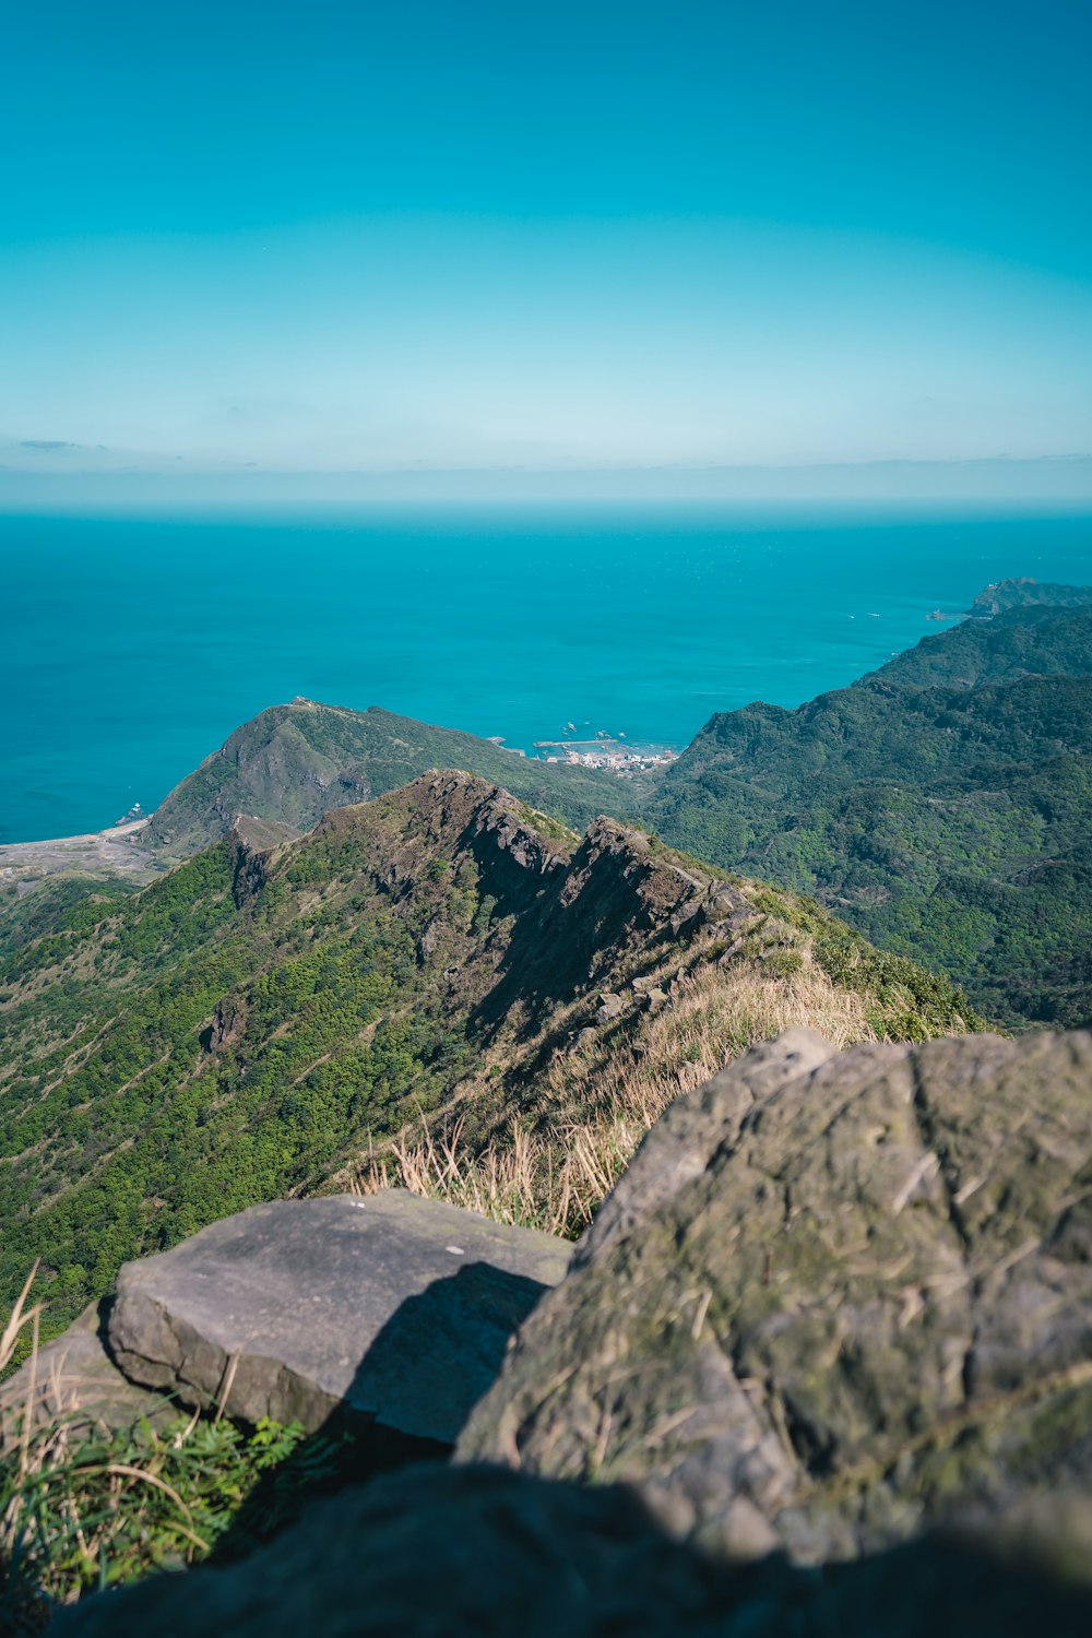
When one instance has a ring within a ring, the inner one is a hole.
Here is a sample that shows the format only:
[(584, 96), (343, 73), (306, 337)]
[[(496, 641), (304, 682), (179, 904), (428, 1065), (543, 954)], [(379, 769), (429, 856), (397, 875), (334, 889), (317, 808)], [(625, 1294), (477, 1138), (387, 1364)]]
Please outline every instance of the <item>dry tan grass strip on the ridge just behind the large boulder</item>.
[(398, 1184), (498, 1222), (576, 1237), (675, 1097), (794, 1025), (840, 1048), (876, 1038), (864, 999), (838, 989), (807, 955), (787, 976), (761, 963), (697, 963), (673, 984), (670, 1006), (555, 1055), (526, 1112), (483, 1147), (465, 1142), (460, 1119), (439, 1132), (422, 1122), (372, 1156), (355, 1186)]

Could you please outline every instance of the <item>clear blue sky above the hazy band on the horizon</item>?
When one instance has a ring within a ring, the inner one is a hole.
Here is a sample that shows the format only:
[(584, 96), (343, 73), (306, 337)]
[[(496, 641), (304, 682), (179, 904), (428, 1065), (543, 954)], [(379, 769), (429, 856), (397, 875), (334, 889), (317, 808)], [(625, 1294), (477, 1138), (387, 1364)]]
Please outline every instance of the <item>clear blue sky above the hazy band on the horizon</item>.
[(8, 467), (1092, 452), (1087, 0), (62, 0), (3, 46)]

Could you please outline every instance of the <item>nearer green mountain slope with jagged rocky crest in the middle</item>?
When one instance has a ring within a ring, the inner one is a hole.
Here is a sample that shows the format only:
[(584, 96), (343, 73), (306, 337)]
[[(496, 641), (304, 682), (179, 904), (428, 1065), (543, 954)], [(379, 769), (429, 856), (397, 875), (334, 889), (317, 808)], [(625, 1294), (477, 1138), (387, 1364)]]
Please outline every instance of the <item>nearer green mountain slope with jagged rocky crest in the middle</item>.
[(241, 821), (0, 965), (0, 1301), (41, 1256), (56, 1328), (124, 1258), (344, 1186), (422, 1115), (458, 1111), (485, 1142), (537, 1102), (557, 1127), (573, 1065), (594, 1099), (673, 1014), (673, 1075), (684, 1040), (715, 1068), (784, 1022), (976, 1022), (817, 906), (612, 821), (580, 840), (468, 775), (283, 837)]

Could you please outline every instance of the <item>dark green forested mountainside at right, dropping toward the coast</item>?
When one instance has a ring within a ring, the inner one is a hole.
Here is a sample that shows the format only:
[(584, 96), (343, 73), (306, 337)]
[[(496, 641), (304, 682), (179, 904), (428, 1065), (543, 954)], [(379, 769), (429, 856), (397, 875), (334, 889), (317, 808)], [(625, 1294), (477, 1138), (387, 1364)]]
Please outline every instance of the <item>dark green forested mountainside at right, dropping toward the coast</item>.
[(1076, 1025), (1092, 1019), (1090, 753), (1092, 606), (1012, 608), (796, 711), (714, 716), (647, 816), (815, 893), (992, 1017)]

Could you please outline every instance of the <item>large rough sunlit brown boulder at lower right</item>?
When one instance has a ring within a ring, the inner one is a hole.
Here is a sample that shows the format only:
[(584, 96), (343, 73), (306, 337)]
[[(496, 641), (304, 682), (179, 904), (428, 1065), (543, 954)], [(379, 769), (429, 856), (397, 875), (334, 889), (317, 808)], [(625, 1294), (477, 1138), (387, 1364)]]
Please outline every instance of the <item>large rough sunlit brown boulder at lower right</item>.
[(804, 1561), (1087, 1484), (1090, 1201), (1092, 1035), (791, 1032), (653, 1129), (458, 1455)]

